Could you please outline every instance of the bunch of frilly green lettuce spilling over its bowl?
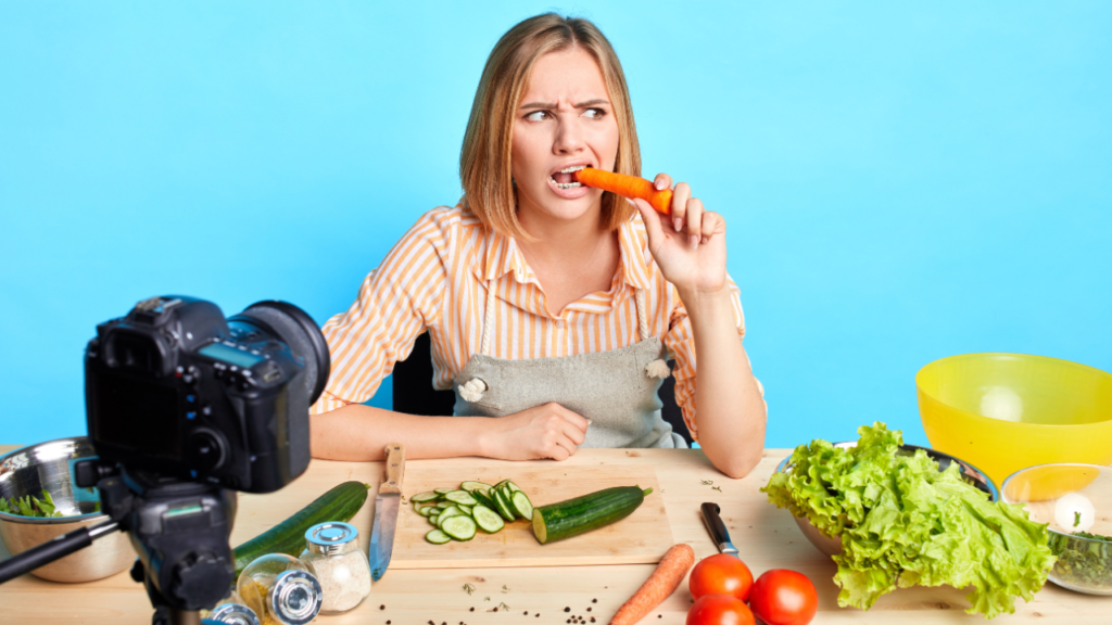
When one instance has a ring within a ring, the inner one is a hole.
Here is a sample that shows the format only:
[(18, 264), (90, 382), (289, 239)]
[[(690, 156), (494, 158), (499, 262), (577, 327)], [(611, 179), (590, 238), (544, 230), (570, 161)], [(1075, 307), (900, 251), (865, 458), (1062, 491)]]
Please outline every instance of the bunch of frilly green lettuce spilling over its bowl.
[(857, 429), (856, 447), (801, 445), (791, 473), (761, 490), (768, 502), (842, 538), (834, 582), (838, 605), (868, 609), (914, 585), (972, 586), (970, 614), (1015, 612), (1046, 582), (1054, 556), (1046, 526), (1020, 504), (992, 503), (956, 465), (940, 472), (924, 452), (902, 452), (902, 434), (877, 421)]

